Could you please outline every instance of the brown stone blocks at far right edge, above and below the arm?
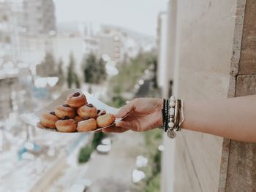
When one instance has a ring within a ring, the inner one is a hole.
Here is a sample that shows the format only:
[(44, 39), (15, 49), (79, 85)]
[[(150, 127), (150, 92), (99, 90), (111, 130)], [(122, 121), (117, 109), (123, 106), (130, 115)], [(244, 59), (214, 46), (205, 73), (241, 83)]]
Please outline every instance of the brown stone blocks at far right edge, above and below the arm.
[[(233, 66), (231, 65), (231, 69)], [(246, 0), (235, 96), (256, 94), (256, 1)], [(256, 191), (256, 144), (230, 140), (225, 192)]]

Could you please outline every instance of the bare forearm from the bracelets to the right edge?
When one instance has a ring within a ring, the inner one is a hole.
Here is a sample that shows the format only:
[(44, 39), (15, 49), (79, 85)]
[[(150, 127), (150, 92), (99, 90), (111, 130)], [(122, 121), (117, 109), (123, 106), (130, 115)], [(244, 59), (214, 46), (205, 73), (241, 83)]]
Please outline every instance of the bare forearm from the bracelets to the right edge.
[(181, 128), (244, 142), (256, 142), (256, 96), (184, 101)]

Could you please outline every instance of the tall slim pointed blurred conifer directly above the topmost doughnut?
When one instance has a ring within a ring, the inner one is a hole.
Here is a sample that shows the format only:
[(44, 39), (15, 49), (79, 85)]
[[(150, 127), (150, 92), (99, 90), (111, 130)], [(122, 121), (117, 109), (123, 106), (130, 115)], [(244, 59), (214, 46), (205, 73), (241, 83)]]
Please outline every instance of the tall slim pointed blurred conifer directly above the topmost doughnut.
[(67, 69), (67, 86), (68, 88), (72, 88), (72, 85), (75, 84), (75, 88), (80, 88), (80, 82), (78, 78), (78, 74), (75, 73), (75, 58), (73, 53), (69, 55), (69, 66)]

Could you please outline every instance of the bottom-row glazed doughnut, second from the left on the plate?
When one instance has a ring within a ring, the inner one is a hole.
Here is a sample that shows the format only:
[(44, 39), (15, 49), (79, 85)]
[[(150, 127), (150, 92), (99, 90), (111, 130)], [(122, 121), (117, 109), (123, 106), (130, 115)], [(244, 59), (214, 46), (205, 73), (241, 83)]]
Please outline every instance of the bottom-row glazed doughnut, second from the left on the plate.
[(56, 122), (56, 128), (60, 132), (75, 132), (77, 123), (69, 117), (64, 117)]

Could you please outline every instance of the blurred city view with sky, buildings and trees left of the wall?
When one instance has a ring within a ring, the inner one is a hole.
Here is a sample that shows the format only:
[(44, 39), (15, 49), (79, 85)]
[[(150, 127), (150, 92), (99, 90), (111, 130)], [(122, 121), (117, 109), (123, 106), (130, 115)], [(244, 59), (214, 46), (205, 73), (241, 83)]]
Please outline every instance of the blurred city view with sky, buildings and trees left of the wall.
[(161, 130), (56, 134), (20, 115), (68, 88), (117, 108), (160, 96), (166, 6), (164, 0), (0, 0), (0, 191), (160, 191)]

